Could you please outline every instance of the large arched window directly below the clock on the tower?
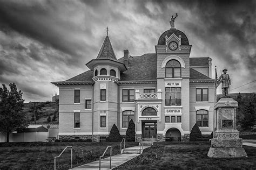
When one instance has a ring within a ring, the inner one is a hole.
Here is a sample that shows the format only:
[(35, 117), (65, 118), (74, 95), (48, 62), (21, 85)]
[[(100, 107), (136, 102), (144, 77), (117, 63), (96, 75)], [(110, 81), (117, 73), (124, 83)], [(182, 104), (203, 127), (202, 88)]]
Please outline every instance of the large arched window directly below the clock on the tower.
[(181, 77), (181, 66), (177, 60), (170, 60), (166, 63), (165, 77), (170, 77), (170, 78)]

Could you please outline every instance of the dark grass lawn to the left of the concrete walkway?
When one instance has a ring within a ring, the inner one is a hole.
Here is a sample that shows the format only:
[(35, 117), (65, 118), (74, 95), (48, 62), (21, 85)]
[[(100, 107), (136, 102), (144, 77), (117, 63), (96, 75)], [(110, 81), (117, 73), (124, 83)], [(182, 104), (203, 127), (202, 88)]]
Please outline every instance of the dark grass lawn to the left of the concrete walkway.
[[(126, 147), (138, 146), (138, 143), (127, 142), (125, 145)], [(112, 154), (120, 153), (120, 143), (114, 142), (0, 143), (0, 169), (53, 169), (53, 158), (58, 156), (66, 146), (73, 146), (73, 167), (98, 160), (107, 146), (112, 146)], [(70, 168), (70, 148), (57, 158), (56, 162), (57, 169)]]

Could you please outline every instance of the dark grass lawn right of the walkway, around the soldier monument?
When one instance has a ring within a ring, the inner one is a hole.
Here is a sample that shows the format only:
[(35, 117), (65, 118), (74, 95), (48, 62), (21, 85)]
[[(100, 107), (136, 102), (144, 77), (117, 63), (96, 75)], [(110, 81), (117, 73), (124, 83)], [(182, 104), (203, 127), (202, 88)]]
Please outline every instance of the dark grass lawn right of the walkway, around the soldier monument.
[[(155, 145), (155, 146), (154, 146)], [(160, 142), (115, 169), (255, 169), (256, 147), (244, 146), (247, 158), (208, 158), (208, 142)]]

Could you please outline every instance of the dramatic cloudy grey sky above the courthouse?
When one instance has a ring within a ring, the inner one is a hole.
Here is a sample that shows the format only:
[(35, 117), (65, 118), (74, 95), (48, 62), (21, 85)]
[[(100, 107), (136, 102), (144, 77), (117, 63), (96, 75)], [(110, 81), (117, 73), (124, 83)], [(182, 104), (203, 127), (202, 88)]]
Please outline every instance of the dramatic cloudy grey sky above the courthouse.
[(25, 102), (51, 100), (58, 87), (50, 82), (89, 70), (85, 63), (96, 59), (107, 26), (117, 58), (123, 49), (139, 56), (155, 53), (178, 13), (175, 26), (192, 45), (190, 57), (211, 57), (218, 76), (227, 68), (231, 93), (255, 92), (255, 2), (1, 0), (0, 83), (15, 82)]

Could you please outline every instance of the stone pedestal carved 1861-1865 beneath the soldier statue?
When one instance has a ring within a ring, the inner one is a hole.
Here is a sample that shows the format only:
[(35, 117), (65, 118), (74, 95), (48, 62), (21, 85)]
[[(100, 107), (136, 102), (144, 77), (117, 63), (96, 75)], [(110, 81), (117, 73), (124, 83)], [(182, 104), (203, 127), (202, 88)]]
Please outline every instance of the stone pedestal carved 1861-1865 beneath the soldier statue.
[(242, 148), (242, 138), (237, 130), (237, 101), (233, 98), (220, 98), (215, 105), (216, 130), (211, 139), (208, 157), (211, 158), (240, 158), (247, 157)]

